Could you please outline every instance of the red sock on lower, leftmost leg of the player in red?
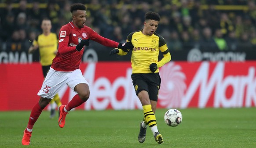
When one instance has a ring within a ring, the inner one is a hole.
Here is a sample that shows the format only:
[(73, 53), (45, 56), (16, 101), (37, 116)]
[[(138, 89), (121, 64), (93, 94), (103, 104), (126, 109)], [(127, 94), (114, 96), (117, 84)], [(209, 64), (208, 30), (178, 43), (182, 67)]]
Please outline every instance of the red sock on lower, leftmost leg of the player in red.
[(40, 116), (43, 109), (44, 108), (41, 108), (38, 102), (32, 108), (32, 111), (31, 111), (30, 117), (29, 117), (29, 123), (28, 123), (28, 126), (27, 126), (28, 129), (33, 129), (33, 126), (37, 122), (37, 119)]

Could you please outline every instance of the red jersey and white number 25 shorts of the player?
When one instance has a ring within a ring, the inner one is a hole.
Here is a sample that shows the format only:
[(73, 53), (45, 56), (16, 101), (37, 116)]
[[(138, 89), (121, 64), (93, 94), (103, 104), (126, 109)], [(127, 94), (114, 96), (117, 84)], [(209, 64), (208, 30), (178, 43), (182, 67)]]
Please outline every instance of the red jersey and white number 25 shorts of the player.
[(77, 44), (87, 39), (106, 47), (118, 47), (117, 42), (100, 36), (88, 26), (77, 28), (73, 22), (63, 25), (59, 32), (58, 52), (37, 95), (51, 99), (65, 84), (73, 90), (79, 83), (88, 84), (79, 69), (84, 47), (81, 51), (76, 50)]

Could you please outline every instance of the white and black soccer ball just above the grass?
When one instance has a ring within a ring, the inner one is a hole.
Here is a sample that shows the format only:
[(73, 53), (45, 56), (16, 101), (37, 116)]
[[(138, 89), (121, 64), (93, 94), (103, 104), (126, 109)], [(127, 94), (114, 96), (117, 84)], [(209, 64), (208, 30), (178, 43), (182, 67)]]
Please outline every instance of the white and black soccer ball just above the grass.
[(169, 109), (167, 112), (165, 112), (165, 123), (168, 126), (178, 126), (182, 121), (182, 114), (179, 112), (178, 109)]

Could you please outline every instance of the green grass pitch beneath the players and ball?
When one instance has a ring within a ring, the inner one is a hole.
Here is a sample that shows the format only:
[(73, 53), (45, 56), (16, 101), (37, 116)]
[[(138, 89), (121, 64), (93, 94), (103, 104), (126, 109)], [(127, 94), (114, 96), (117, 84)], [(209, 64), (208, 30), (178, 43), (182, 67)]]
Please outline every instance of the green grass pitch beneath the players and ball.
[[(178, 108), (179, 109), (179, 108)], [(0, 112), (0, 148), (256, 148), (256, 108), (179, 109), (183, 121), (170, 127), (167, 109), (157, 109), (159, 145), (150, 128), (138, 141), (142, 110), (71, 111), (66, 126), (43, 111), (33, 128), (29, 146), (21, 144), (30, 111)]]

